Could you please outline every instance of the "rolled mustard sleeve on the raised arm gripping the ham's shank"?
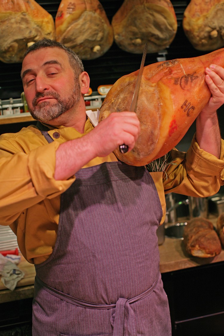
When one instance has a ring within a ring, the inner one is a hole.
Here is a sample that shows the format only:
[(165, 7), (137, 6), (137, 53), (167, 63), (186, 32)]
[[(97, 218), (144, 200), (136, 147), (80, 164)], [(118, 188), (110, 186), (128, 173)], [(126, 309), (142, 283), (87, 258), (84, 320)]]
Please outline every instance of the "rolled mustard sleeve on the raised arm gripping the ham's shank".
[(224, 141), (220, 158), (199, 148), (195, 136), (187, 153), (171, 151), (172, 165), (163, 176), (165, 193), (174, 192), (194, 197), (208, 197), (224, 184)]

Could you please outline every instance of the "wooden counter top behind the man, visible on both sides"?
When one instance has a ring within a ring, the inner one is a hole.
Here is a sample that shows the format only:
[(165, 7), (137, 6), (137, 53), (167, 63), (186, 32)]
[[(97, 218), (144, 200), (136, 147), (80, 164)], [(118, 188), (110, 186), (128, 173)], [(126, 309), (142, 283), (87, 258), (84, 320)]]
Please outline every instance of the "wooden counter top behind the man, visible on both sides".
[[(161, 273), (224, 261), (223, 249), (221, 253), (214, 258), (197, 258), (189, 256), (185, 252), (183, 240), (181, 239), (165, 237), (163, 245), (159, 246), (159, 251)], [(13, 292), (6, 289), (0, 281), (0, 303), (33, 297), (35, 267), (28, 263), (23, 256), (21, 257), (18, 267), (24, 271), (25, 277), (18, 282)]]

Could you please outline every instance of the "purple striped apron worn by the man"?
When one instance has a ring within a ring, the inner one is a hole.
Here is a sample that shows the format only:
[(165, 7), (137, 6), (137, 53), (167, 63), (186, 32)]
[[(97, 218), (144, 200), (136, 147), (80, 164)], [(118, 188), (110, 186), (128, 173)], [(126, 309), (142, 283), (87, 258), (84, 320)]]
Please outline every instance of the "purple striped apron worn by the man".
[(156, 229), (162, 208), (144, 167), (83, 168), (61, 195), (56, 244), (35, 265), (33, 336), (169, 336)]

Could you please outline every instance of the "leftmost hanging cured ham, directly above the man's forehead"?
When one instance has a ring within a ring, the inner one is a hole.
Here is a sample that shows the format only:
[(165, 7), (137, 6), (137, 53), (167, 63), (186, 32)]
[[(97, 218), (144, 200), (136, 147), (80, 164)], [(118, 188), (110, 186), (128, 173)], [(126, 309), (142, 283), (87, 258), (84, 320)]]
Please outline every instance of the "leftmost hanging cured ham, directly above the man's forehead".
[(34, 0), (0, 1), (0, 60), (19, 63), (28, 46), (55, 38), (53, 17)]

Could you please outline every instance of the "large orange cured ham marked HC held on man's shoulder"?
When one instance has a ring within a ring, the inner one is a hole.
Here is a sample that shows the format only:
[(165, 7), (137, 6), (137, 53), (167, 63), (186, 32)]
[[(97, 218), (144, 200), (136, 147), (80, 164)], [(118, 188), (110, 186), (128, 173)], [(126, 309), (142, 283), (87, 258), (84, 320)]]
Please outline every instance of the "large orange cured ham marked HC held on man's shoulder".
[[(224, 66), (224, 48), (144, 67), (135, 108), (140, 136), (132, 151), (114, 151), (119, 160), (143, 166), (177, 145), (211, 97), (205, 67), (212, 63)], [(112, 86), (100, 108), (100, 121), (111, 112), (129, 111), (137, 75), (125, 75)]]

